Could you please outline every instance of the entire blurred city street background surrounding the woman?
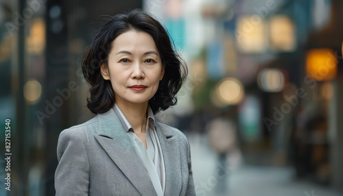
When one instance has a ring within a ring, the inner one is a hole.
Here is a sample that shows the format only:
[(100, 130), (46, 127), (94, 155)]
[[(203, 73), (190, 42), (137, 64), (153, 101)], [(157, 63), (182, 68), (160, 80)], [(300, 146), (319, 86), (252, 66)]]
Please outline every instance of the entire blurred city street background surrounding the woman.
[(55, 195), (60, 133), (97, 115), (82, 67), (104, 82), (115, 37), (94, 64), (87, 51), (134, 9), (161, 22), (187, 67), (177, 104), (154, 115), (189, 139), (197, 195), (343, 195), (342, 0), (0, 0), (1, 168), (13, 152), (1, 196)]

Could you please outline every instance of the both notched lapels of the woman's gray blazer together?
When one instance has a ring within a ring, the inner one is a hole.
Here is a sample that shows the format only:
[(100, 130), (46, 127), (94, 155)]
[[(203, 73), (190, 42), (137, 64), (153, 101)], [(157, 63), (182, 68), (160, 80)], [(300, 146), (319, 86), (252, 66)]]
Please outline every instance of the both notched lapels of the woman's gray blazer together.
[[(95, 134), (95, 138), (99, 144), (141, 195), (156, 195), (151, 180), (147, 180), (150, 177), (147, 175), (136, 151), (134, 151), (131, 140), (113, 108), (97, 116), (99, 129)], [(174, 140), (175, 133), (171, 129), (163, 129), (156, 122), (155, 130), (161, 144), (165, 163), (165, 195), (174, 194), (174, 188), (180, 190), (182, 184), (181, 179), (174, 176), (175, 172), (180, 172), (180, 164), (175, 164), (176, 160), (172, 160), (172, 158), (180, 158), (178, 143)], [(132, 169), (134, 169), (134, 172), (132, 172)]]

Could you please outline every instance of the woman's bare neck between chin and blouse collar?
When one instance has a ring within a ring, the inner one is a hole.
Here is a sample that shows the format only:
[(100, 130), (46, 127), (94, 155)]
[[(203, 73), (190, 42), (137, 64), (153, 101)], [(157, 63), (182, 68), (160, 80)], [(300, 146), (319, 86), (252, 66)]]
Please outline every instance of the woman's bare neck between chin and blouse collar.
[(118, 108), (123, 112), (126, 119), (132, 125), (135, 133), (145, 133), (147, 123), (147, 101), (145, 103), (123, 103), (115, 102)]

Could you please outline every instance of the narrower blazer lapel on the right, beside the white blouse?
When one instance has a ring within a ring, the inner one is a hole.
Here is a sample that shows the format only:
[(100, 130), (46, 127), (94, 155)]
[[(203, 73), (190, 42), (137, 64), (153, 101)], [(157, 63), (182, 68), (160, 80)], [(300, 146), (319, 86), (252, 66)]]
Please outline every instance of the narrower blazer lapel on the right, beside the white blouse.
[(163, 161), (165, 162), (165, 193), (164, 195), (180, 195), (176, 193), (181, 190), (182, 179), (180, 179), (180, 153), (174, 132), (170, 129), (163, 129), (161, 125), (155, 125), (158, 140), (161, 144)]

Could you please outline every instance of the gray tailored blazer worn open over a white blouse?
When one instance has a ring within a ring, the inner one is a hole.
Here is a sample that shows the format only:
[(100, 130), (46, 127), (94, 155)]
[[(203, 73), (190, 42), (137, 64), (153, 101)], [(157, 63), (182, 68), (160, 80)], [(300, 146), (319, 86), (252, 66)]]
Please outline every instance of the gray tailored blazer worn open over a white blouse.
[[(164, 195), (196, 195), (185, 134), (158, 122), (155, 129), (165, 162)], [(156, 195), (112, 108), (61, 132), (57, 158), (56, 195)]]

